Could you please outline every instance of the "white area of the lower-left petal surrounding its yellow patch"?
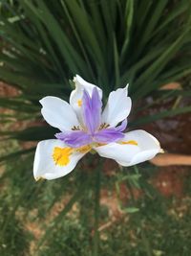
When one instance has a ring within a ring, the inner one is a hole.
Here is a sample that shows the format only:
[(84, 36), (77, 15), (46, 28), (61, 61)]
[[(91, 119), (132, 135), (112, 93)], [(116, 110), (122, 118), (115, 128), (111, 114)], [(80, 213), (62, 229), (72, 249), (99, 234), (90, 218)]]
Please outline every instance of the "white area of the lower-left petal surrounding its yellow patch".
[(56, 147), (68, 148), (59, 140), (44, 140), (38, 143), (33, 162), (33, 176), (36, 180), (40, 178), (54, 179), (68, 175), (74, 170), (79, 159), (85, 154), (74, 151), (69, 156), (69, 163), (65, 166), (60, 166), (55, 164), (53, 160), (53, 150)]

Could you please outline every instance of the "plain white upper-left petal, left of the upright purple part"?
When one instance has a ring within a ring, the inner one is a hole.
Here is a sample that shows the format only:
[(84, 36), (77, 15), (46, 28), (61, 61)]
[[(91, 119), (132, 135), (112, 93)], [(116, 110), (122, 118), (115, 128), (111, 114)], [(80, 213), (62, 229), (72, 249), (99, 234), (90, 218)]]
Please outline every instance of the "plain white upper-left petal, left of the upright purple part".
[(71, 130), (79, 126), (74, 109), (67, 102), (53, 96), (47, 96), (40, 100), (43, 106), (41, 113), (44, 119), (54, 128), (62, 131)]

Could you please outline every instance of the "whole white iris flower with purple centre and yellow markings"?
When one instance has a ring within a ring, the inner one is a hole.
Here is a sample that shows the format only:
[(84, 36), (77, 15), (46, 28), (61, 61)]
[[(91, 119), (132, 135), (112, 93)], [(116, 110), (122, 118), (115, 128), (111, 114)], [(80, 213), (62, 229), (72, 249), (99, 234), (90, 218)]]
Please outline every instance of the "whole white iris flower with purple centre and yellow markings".
[(40, 101), (44, 119), (60, 132), (55, 139), (38, 143), (33, 164), (36, 180), (68, 175), (89, 151), (121, 166), (144, 162), (161, 151), (159, 141), (148, 132), (123, 132), (132, 105), (128, 86), (111, 92), (102, 111), (102, 90), (78, 75), (74, 83), (70, 104), (53, 96)]

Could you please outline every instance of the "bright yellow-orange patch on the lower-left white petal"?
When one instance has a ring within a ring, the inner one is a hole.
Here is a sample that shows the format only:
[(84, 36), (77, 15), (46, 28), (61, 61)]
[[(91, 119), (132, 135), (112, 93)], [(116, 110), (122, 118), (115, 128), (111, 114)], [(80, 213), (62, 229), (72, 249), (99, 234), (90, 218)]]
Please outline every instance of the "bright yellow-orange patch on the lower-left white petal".
[(71, 148), (59, 148), (55, 147), (53, 149), (53, 161), (55, 165), (66, 166), (70, 163), (70, 155), (73, 149)]

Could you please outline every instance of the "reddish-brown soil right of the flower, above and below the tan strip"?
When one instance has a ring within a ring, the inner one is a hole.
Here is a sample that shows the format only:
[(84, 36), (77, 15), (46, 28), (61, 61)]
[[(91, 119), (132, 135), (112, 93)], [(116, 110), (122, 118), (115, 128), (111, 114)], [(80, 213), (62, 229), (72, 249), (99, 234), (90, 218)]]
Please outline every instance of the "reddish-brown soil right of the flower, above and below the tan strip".
[[(147, 99), (148, 102), (152, 99)], [(141, 115), (154, 115), (160, 111), (171, 109), (175, 101), (163, 102), (144, 110)], [(180, 106), (190, 105), (180, 101)], [(159, 139), (161, 148), (170, 153), (191, 155), (191, 114), (184, 113), (178, 116), (165, 118), (141, 128), (152, 133)], [(189, 174), (190, 167), (169, 166), (160, 167), (152, 183), (165, 197), (183, 196), (184, 179)]]

